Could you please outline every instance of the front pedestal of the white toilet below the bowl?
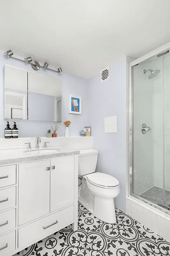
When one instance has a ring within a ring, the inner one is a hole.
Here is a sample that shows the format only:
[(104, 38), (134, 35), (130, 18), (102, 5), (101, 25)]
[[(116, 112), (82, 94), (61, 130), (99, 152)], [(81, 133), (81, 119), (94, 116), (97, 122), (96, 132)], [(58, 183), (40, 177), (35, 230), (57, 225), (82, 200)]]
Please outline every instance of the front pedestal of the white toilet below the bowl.
[(116, 223), (116, 212), (114, 199), (106, 199), (95, 196), (93, 214), (100, 220), (107, 223)]

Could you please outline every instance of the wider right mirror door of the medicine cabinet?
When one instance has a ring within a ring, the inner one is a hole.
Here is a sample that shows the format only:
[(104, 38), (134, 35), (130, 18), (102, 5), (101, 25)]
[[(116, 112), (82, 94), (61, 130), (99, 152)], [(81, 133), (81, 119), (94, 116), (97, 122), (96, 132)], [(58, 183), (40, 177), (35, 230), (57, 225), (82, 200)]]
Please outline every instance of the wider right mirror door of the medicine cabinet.
[(61, 99), (61, 80), (28, 72), (29, 120), (61, 122)]

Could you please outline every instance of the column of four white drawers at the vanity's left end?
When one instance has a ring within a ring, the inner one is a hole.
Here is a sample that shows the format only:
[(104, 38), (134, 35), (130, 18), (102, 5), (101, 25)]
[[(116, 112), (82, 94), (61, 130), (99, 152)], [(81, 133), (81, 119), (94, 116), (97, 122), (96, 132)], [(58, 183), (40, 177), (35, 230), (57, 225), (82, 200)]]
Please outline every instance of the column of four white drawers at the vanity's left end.
[(16, 164), (0, 166), (0, 256), (16, 249)]

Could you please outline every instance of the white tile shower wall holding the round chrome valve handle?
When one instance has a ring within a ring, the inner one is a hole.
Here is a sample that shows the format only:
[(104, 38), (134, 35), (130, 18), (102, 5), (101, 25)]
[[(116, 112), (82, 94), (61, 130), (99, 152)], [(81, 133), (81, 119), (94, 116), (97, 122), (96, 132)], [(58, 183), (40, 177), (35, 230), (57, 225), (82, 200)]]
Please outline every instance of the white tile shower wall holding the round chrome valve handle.
[(134, 193), (140, 195), (154, 186), (154, 130), (141, 132), (145, 123), (152, 127), (152, 104), (154, 81), (143, 70), (146, 66), (134, 67)]

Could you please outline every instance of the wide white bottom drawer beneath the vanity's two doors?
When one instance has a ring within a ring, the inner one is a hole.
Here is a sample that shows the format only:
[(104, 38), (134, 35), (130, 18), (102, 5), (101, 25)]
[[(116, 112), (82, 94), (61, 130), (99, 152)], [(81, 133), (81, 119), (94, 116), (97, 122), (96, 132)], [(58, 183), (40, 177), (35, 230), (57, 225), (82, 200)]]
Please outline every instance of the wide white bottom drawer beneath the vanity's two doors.
[(64, 228), (65, 224), (71, 220), (74, 220), (74, 205), (19, 228), (18, 247), (53, 234), (53, 232)]

